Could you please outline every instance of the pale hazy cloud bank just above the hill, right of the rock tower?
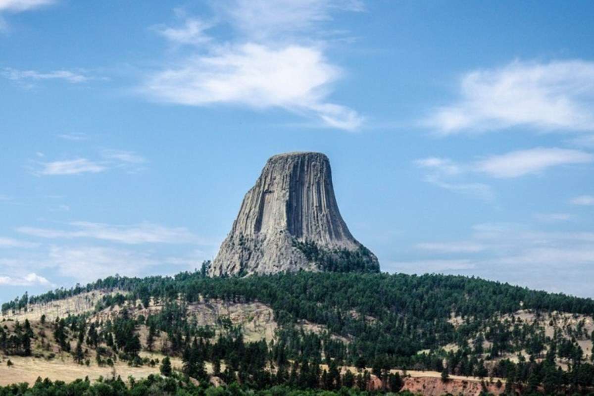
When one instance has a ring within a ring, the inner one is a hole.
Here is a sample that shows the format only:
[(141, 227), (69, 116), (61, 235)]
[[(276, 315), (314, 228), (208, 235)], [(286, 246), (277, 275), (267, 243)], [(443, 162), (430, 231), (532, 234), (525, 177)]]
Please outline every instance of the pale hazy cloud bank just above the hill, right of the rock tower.
[(533, 289), (594, 297), (594, 232), (548, 232), (521, 223), (481, 223), (462, 240), (416, 243), (389, 271), (478, 275)]

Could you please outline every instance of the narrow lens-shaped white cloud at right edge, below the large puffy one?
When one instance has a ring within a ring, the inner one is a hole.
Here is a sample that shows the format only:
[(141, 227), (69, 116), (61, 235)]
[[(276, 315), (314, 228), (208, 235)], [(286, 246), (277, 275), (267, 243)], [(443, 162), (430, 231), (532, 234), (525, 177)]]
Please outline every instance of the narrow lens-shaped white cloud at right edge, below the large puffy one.
[(473, 169), (494, 178), (517, 178), (529, 173), (542, 172), (552, 166), (592, 161), (594, 156), (584, 151), (538, 147), (489, 157), (476, 163)]

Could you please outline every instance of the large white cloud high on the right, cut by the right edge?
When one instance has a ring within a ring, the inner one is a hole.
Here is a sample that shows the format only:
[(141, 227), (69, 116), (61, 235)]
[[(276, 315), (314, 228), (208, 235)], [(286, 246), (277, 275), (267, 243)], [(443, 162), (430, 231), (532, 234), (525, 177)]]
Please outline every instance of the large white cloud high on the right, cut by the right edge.
[(461, 99), (424, 121), (441, 134), (523, 125), (563, 131), (594, 130), (594, 62), (512, 62), (467, 73)]

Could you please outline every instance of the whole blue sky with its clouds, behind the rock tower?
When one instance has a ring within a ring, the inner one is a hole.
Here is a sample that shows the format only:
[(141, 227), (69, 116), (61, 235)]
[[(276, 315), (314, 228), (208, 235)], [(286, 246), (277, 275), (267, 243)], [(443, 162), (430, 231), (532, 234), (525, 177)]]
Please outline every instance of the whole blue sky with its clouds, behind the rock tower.
[(200, 267), (296, 150), (383, 271), (594, 297), (592, 15), (0, 0), (0, 299)]

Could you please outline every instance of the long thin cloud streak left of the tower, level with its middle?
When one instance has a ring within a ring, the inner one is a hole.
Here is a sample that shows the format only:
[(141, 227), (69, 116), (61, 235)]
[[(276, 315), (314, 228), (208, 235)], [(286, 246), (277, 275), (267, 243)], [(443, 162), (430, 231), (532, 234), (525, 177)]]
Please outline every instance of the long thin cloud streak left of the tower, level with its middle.
[(131, 226), (73, 221), (69, 223), (74, 230), (43, 229), (37, 227), (18, 227), (17, 231), (26, 235), (49, 239), (93, 238), (112, 242), (136, 245), (139, 243), (202, 243), (205, 240), (189, 232), (184, 227), (169, 228), (158, 224), (141, 223)]

